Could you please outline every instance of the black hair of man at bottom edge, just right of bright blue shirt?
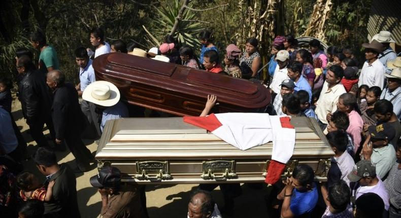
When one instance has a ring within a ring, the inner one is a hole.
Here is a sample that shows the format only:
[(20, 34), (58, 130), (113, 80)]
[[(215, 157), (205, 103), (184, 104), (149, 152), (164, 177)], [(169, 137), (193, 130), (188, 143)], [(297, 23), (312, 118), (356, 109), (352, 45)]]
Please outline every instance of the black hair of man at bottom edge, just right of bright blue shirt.
[(345, 181), (340, 180), (328, 188), (330, 206), (337, 211), (344, 211), (350, 203), (351, 192)]

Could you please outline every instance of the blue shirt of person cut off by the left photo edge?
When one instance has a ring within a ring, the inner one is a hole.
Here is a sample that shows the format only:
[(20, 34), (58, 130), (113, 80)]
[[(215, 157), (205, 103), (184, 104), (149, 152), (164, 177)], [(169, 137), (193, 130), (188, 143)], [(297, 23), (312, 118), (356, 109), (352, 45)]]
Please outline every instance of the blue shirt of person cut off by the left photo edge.
[(0, 146), (9, 154), (17, 148), (18, 141), (15, 136), (10, 114), (0, 107)]

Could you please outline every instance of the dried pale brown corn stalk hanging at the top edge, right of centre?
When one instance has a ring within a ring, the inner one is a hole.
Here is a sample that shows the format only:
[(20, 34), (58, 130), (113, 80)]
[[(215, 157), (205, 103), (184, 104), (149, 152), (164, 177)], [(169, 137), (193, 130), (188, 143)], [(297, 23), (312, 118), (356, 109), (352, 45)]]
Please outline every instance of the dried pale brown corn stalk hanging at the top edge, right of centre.
[(309, 19), (308, 27), (302, 36), (315, 37), (321, 41), (325, 41), (324, 23), (328, 19), (329, 12), (332, 8), (331, 0), (317, 0), (313, 6), (313, 13)]

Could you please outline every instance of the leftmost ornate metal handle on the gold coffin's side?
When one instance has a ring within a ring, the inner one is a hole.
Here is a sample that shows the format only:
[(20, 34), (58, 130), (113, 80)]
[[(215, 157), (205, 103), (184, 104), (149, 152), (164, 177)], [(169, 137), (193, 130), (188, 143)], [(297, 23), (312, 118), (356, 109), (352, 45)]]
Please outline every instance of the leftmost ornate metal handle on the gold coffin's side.
[(133, 177), (154, 182), (173, 178), (169, 173), (168, 161), (137, 161), (137, 174), (133, 174)]

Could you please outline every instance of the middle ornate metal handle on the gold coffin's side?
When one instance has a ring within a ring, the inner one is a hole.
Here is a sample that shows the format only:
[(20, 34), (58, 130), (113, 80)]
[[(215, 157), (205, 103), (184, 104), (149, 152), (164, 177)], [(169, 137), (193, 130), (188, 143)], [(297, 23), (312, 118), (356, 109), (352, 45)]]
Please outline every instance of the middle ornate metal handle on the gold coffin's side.
[[(222, 173), (221, 176), (215, 173)], [(226, 181), (227, 179), (237, 178), (235, 173), (235, 161), (204, 161), (203, 174), (200, 175), (205, 180), (215, 179), (216, 181)]]

